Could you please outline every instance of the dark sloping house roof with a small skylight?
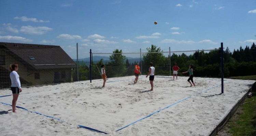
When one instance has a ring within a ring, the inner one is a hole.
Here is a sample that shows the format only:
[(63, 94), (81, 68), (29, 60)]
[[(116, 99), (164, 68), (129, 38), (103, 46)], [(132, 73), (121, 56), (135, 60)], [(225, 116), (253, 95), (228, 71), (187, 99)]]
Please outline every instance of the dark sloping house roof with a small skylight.
[(60, 46), (0, 42), (0, 49), (10, 50), (14, 57), (35, 69), (76, 67), (75, 62)]

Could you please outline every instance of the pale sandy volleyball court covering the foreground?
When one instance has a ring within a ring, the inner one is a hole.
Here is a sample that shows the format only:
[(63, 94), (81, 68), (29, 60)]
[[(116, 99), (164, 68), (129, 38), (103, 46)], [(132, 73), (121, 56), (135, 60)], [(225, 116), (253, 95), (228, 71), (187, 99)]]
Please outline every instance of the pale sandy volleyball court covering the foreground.
[(224, 79), (221, 94), (217, 78), (194, 77), (189, 87), (188, 77), (156, 76), (154, 91), (145, 75), (134, 78), (108, 79), (105, 88), (102, 80), (23, 88), (17, 106), (28, 111), (18, 114), (11, 90), (0, 90), (1, 135), (208, 136), (255, 82)]

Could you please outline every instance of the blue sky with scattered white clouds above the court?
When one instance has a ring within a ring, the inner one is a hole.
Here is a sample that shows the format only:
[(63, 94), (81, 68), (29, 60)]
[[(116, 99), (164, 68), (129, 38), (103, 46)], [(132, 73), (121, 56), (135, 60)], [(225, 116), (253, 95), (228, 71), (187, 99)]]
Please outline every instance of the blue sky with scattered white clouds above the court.
[[(256, 43), (256, 0), (0, 0), (0, 42), (94, 53), (210, 50)], [(157, 24), (154, 22), (157, 21)], [(224, 49), (225, 50), (225, 49)]]

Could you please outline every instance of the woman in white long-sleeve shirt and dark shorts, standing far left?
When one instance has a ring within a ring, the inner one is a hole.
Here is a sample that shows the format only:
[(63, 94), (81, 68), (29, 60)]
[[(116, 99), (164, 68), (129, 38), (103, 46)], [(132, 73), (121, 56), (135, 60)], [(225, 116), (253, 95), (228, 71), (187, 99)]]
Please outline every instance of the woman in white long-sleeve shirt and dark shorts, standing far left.
[(12, 99), (12, 112), (16, 113), (15, 109), (16, 109), (16, 103), (19, 97), (19, 92), (22, 92), (22, 88), (20, 85), (20, 81), (19, 81), (19, 75), (16, 72), (19, 69), (18, 64), (11, 64), (10, 65), (10, 78), (12, 81), (12, 85), (11, 85), (11, 90), (12, 90), (12, 95), (13, 95), (13, 99)]

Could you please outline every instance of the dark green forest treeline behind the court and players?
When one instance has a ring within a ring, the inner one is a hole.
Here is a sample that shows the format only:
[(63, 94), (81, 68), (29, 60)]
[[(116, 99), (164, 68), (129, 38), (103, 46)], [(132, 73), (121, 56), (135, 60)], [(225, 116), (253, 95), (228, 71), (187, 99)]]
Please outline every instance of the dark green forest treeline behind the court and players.
[[(171, 54), (165, 56), (160, 47), (151, 45), (147, 48), (147, 52), (143, 54), (141, 62), (141, 72), (147, 74), (150, 62), (153, 62), (156, 69), (156, 75), (170, 75), (170, 67), (175, 63), (181, 68), (180, 71), (187, 71), (188, 65), (194, 66), (194, 75), (196, 77), (221, 77), (221, 49), (215, 49), (209, 52), (196, 51), (193, 54)], [(137, 62), (129, 62), (122, 50), (114, 50), (110, 55), (110, 60), (104, 63), (101, 59), (99, 62), (92, 62), (92, 73), (98, 73), (92, 76), (92, 79), (100, 79), (100, 65), (106, 65), (108, 78), (123, 77), (133, 75), (134, 66)], [(246, 46), (245, 49), (240, 47), (232, 52), (227, 47), (223, 51), (224, 57), (224, 77), (256, 75), (256, 46), (253, 43), (251, 47)], [(140, 63), (140, 62), (139, 62)], [(171, 64), (170, 64), (171, 63)], [(88, 64), (79, 63), (79, 79), (89, 80)], [(118, 71), (118, 72), (117, 72)], [(178, 73), (181, 75), (181, 72)]]

